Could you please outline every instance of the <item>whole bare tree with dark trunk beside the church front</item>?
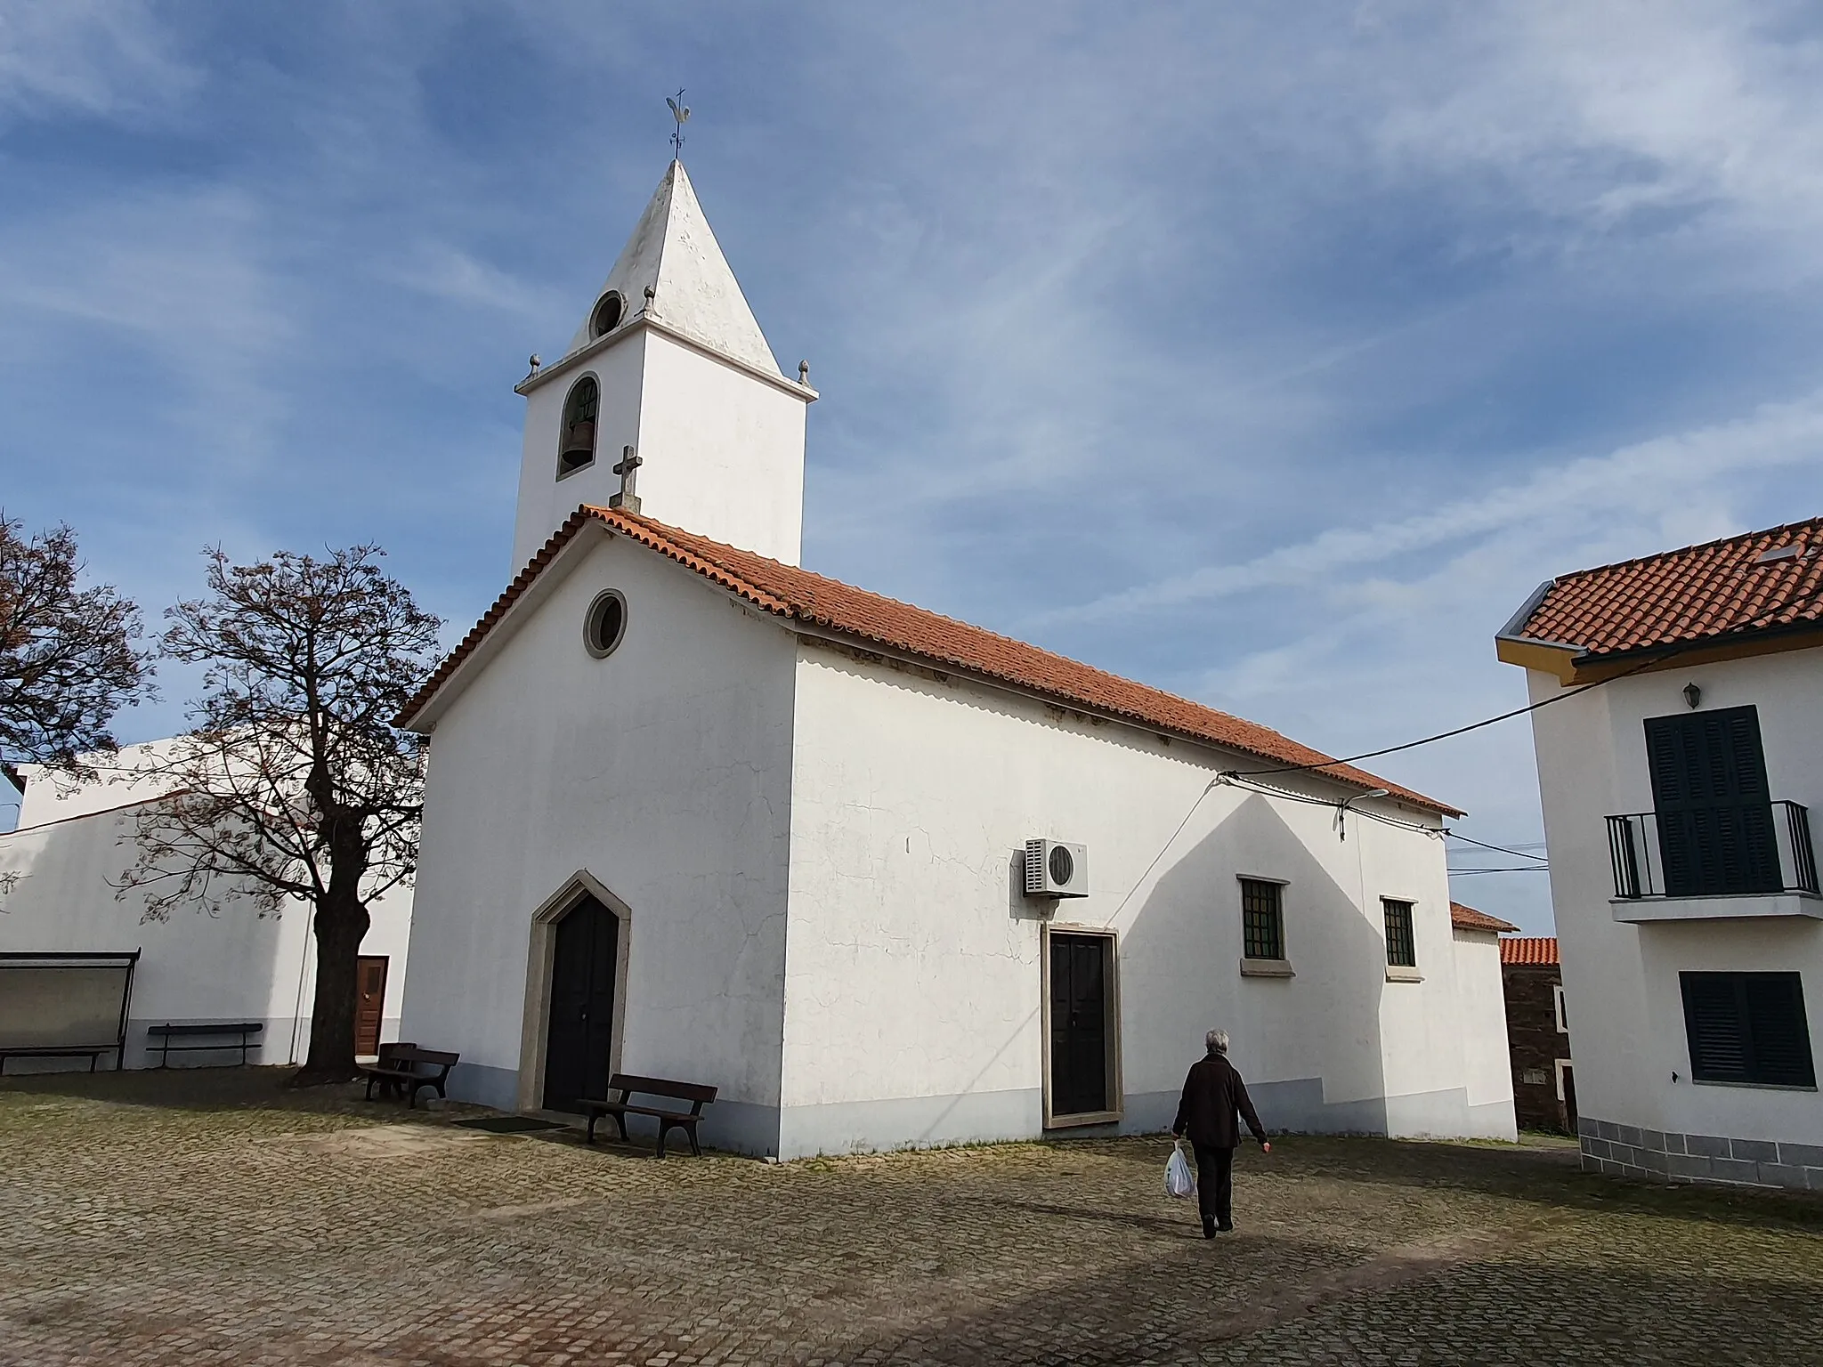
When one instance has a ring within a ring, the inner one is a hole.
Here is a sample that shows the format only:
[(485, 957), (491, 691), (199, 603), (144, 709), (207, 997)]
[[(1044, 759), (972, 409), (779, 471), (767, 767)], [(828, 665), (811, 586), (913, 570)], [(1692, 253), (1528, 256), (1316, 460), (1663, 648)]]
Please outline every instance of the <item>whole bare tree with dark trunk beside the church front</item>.
[(252, 897), (312, 910), (317, 992), (301, 1083), (354, 1075), (368, 904), (410, 882), (425, 742), (392, 725), (438, 658), (441, 622), (377, 547), (257, 565), (208, 558), (208, 596), (166, 611), (164, 651), (206, 667), (193, 731), (149, 760), (170, 793), (139, 811), (122, 893), (146, 915)]

